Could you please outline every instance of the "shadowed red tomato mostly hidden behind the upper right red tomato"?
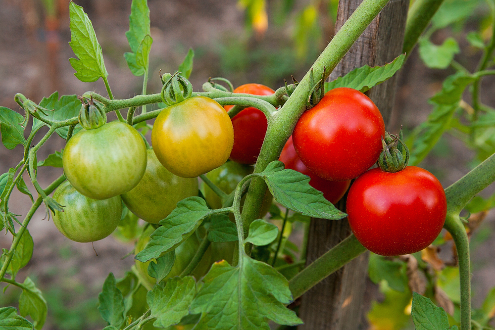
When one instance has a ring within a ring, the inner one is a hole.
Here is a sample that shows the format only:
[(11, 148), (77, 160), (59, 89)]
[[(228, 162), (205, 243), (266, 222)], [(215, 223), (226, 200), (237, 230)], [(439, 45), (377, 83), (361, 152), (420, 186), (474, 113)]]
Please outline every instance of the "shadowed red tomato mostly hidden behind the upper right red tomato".
[(297, 156), (296, 149), (294, 148), (294, 144), (292, 142), (292, 136), (285, 143), (279, 160), (284, 163), (285, 168), (295, 170), (307, 175), (311, 179), (309, 180), (309, 185), (314, 189), (323, 192), (323, 197), (325, 197), (325, 199), (327, 199), (332, 204), (337, 203), (344, 196), (347, 188), (349, 188), (350, 180), (329, 181), (320, 178), (319, 176), (311, 172), (299, 159), (299, 156)]

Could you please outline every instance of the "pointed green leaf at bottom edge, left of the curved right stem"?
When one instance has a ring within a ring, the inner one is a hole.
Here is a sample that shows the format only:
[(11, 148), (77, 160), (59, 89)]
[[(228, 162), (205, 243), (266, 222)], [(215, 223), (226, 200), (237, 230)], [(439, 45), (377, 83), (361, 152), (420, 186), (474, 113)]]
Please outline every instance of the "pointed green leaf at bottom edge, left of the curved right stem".
[(447, 313), (437, 307), (430, 298), (421, 294), (412, 294), (412, 320), (416, 330), (445, 330), (449, 329)]

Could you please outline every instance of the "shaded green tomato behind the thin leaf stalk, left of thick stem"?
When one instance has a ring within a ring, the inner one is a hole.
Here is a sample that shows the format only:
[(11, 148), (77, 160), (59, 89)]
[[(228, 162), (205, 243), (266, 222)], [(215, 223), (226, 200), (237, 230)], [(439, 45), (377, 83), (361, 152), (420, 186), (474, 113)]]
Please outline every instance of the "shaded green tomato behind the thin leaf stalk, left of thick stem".
[[(206, 173), (206, 177), (211, 180), (218, 188), (220, 188), (223, 192), (229, 194), (234, 189), (236, 189), (237, 185), (241, 180), (247, 176), (248, 174), (251, 174), (253, 171), (252, 166), (246, 166), (242, 165), (239, 163), (236, 163), (234, 161), (228, 161), (225, 164), (223, 164), (220, 167), (217, 167), (213, 171), (210, 171)], [(213, 192), (206, 184), (202, 183), (203, 185), (203, 191), (204, 191), (204, 198), (208, 205), (212, 209), (219, 209), (222, 207), (222, 201), (220, 200), (220, 197)], [(241, 199), (241, 211), (242, 207), (244, 205), (244, 199), (246, 199), (246, 196), (244, 196)], [(261, 206), (261, 211), (259, 217), (262, 218), (265, 216), (266, 213), (270, 210), (270, 206), (272, 205), (272, 200), (273, 196), (270, 193), (270, 191), (266, 191), (266, 194), (263, 198), (263, 204)], [(231, 220), (234, 220), (233, 214), (230, 213), (229, 217)]]

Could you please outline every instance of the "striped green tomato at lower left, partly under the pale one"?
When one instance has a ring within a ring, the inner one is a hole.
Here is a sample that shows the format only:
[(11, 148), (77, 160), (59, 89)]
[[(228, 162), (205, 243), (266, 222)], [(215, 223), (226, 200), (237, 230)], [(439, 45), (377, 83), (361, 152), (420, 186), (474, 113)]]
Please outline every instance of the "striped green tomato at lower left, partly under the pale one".
[(120, 222), (122, 200), (119, 196), (89, 198), (65, 181), (55, 190), (53, 199), (63, 206), (63, 212), (56, 211), (53, 215), (53, 223), (60, 233), (76, 242), (105, 238)]

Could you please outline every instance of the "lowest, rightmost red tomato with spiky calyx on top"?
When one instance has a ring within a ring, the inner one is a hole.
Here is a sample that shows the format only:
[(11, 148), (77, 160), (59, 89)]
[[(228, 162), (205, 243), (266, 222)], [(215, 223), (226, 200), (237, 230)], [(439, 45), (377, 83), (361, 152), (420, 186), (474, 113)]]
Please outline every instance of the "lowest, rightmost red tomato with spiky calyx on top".
[(447, 201), (442, 184), (422, 168), (388, 173), (374, 168), (347, 194), (349, 225), (371, 252), (397, 256), (421, 251), (440, 234)]

